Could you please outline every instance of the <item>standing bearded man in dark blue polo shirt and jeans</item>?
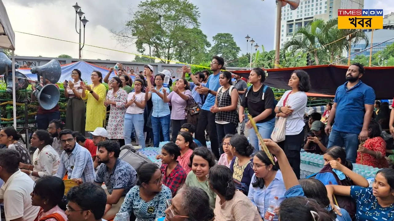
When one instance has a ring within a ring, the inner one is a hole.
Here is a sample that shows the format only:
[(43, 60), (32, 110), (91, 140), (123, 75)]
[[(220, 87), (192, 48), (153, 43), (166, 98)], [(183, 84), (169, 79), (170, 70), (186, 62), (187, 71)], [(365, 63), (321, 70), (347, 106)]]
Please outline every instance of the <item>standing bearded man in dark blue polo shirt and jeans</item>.
[[(356, 162), (359, 141), (368, 139), (368, 126), (374, 111), (375, 91), (362, 83), (364, 66), (355, 63), (346, 72), (346, 83), (335, 92), (334, 105), (325, 127), (330, 134), (328, 148), (345, 146), (346, 160)], [(331, 125), (334, 125), (331, 129)]]

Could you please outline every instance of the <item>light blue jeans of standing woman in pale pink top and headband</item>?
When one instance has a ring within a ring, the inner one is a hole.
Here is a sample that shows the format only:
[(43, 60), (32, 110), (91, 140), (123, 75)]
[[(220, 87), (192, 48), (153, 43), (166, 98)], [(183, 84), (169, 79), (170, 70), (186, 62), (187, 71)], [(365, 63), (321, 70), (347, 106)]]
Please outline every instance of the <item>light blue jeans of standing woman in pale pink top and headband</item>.
[(142, 148), (145, 148), (144, 115), (126, 113), (125, 126), (123, 130), (125, 144), (131, 144), (131, 133), (134, 130), (136, 131), (136, 138), (138, 138), (139, 145), (141, 145)]

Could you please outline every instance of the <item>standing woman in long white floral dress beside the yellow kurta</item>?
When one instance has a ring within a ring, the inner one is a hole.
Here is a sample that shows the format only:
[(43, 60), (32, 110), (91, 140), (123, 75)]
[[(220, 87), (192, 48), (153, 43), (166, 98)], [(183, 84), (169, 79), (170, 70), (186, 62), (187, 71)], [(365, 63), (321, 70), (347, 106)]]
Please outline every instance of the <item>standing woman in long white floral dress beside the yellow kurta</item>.
[(108, 139), (119, 140), (121, 146), (125, 145), (123, 139), (123, 125), (125, 123), (127, 92), (123, 90), (122, 81), (119, 77), (113, 77), (110, 81), (111, 90), (108, 91), (104, 104), (111, 105), (110, 117), (108, 118)]

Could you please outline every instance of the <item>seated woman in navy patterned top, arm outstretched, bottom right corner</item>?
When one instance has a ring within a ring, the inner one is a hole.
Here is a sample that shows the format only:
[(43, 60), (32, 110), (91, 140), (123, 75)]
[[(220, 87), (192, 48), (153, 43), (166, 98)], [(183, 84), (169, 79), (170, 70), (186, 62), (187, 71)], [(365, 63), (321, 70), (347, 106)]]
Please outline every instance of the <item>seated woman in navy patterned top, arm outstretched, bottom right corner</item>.
[[(393, 221), (394, 170), (377, 171), (372, 187), (326, 185), (327, 196), (334, 207), (333, 194), (350, 196), (356, 201), (356, 220)], [(336, 210), (341, 215), (341, 212)]]

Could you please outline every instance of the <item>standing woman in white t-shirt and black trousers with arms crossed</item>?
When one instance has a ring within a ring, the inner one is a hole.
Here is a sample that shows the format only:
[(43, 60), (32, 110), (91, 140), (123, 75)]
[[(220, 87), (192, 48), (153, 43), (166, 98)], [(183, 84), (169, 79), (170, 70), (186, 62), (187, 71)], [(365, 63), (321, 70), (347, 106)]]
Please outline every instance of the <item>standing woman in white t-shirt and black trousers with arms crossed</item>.
[(279, 142), (278, 145), (286, 153), (287, 159), (299, 179), (300, 151), (305, 135), (303, 119), (308, 101), (305, 92), (308, 92), (310, 89), (308, 73), (303, 70), (295, 70), (290, 77), (288, 85), (292, 90), (286, 91), (275, 107), (277, 117), (287, 118), (286, 138), (284, 141)]

